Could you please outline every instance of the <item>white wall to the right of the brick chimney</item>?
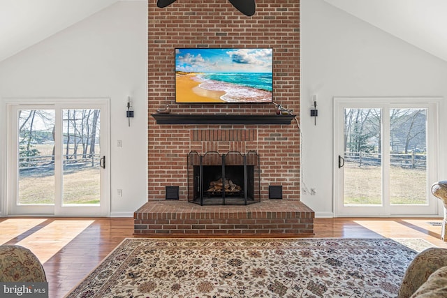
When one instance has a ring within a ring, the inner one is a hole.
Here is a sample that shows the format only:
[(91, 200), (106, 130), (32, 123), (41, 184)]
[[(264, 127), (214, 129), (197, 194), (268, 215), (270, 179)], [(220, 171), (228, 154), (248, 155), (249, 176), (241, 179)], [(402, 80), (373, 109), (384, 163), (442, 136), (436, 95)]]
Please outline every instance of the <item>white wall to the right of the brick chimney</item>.
[[(301, 0), (303, 179), (316, 195), (302, 202), (316, 216), (333, 215), (333, 97), (447, 97), (447, 62), (373, 27), (323, 0)], [(309, 116), (317, 95), (316, 126)], [(447, 105), (441, 103), (441, 115)], [(447, 179), (445, 117), (441, 119), (439, 179)]]

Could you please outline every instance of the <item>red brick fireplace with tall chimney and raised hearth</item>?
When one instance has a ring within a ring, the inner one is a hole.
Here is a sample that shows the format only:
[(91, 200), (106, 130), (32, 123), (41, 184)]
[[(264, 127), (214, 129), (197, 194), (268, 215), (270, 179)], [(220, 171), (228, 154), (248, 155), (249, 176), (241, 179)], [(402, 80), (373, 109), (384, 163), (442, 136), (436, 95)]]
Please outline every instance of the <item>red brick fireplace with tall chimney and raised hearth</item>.
[[(151, 0), (148, 7), (148, 202), (135, 212), (135, 234), (187, 234), (191, 230), (200, 234), (205, 225), (214, 226), (206, 234), (242, 230), (312, 233), (314, 213), (300, 202), (300, 131), (295, 118), (271, 121), (276, 117), (273, 104), (175, 104), (176, 47), (271, 47), (274, 102), (298, 115), (300, 1), (256, 0), (252, 17), (242, 15), (226, 0), (176, 1), (167, 8), (157, 8)], [(193, 116), (193, 121), (152, 117), (166, 105), (170, 105), (171, 115)], [(211, 115), (222, 121), (210, 121)], [(256, 151), (260, 156), (261, 202), (232, 209), (189, 206), (186, 159), (191, 151)], [(179, 200), (163, 201), (166, 186), (178, 186)], [(282, 200), (269, 200), (269, 186), (281, 186)], [(191, 214), (191, 208), (198, 214)], [(212, 223), (213, 216), (216, 221)], [(228, 218), (240, 220), (228, 223)], [(200, 223), (201, 219), (207, 223)], [(256, 228), (256, 219), (265, 227)], [(173, 227), (177, 225), (182, 228), (176, 232)], [(278, 228), (281, 225), (286, 228)]]

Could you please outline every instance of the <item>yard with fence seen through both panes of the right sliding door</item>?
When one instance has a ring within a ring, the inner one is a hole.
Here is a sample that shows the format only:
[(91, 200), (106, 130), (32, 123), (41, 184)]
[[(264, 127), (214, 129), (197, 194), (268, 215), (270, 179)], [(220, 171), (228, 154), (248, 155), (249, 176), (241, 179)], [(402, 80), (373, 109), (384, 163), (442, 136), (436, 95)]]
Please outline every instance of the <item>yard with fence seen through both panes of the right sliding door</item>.
[[(390, 109), (390, 203), (426, 204), (427, 110)], [(344, 109), (344, 204), (381, 204), (381, 109)]]

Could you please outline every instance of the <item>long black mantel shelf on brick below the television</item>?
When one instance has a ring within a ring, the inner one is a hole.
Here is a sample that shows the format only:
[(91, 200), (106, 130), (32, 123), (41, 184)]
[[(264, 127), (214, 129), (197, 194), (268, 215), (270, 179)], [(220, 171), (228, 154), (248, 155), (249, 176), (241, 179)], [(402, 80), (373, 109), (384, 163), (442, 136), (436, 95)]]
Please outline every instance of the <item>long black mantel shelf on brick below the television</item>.
[(156, 124), (290, 125), (295, 115), (275, 114), (152, 114)]

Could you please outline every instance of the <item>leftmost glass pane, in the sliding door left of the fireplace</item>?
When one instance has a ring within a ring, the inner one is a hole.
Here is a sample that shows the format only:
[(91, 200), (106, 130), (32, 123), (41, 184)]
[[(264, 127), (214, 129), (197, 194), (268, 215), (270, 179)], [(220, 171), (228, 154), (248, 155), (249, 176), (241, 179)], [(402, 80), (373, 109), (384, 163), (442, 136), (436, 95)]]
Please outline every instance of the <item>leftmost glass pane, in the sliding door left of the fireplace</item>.
[(17, 204), (54, 204), (54, 110), (17, 110)]

